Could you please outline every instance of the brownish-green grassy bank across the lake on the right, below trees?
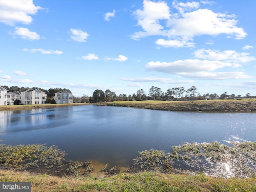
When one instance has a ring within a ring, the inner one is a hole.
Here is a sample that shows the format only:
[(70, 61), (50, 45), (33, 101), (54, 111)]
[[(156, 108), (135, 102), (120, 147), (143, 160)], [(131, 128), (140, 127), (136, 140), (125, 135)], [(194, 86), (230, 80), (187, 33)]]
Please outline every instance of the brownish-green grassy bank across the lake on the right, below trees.
[(256, 99), (198, 101), (116, 101), (99, 106), (122, 106), (168, 111), (256, 111)]

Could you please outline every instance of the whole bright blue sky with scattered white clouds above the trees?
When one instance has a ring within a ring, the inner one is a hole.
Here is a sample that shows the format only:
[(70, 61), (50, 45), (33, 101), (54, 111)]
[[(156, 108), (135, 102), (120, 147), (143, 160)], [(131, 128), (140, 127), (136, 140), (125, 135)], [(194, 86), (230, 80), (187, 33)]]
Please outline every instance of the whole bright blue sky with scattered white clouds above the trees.
[(256, 95), (256, 1), (0, 0), (0, 85)]

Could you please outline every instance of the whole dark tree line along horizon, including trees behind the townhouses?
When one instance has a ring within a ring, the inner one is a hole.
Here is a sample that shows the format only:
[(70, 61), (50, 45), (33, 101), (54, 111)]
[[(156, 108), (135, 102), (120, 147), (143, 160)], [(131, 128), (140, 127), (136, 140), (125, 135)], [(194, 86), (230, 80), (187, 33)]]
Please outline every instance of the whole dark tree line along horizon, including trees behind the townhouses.
[[(22, 91), (26, 91), (30, 89), (29, 87), (18, 87), (18, 86), (2, 86), (6, 90), (13, 92), (15, 94), (20, 94)], [(54, 102), (53, 97), (54, 94), (59, 91), (67, 91), (71, 93), (69, 89), (66, 88), (50, 88), (48, 90), (38, 87), (32, 87), (31, 89), (39, 89), (47, 94), (47, 103)], [(110, 91), (107, 89), (106, 91), (103, 90), (95, 90), (92, 94), (92, 96), (88, 97), (81, 97), (84, 98), (85, 102), (111, 102), (111, 101), (142, 101), (142, 100), (204, 100), (208, 96), (209, 99), (225, 99), (225, 98), (256, 98), (256, 96), (251, 96), (250, 93), (247, 93), (245, 96), (241, 95), (235, 95), (235, 94), (227, 94), (227, 92), (224, 92), (220, 96), (218, 94), (201, 94), (198, 92), (198, 89), (195, 86), (192, 86), (188, 89), (185, 89), (184, 87), (176, 87), (176, 88), (169, 88), (166, 90), (166, 92), (163, 92), (161, 88), (152, 86), (148, 90), (148, 94), (143, 89), (139, 89), (136, 91), (136, 93), (129, 94), (128, 96), (126, 94), (119, 94), (116, 95), (115, 92)], [(73, 101), (76, 102), (78, 100), (75, 96), (73, 96)]]

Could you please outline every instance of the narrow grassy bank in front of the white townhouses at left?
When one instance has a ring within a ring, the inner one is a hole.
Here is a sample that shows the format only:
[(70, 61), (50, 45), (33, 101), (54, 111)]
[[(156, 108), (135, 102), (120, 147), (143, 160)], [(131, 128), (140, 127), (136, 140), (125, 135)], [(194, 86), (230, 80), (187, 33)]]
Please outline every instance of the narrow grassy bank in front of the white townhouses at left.
[(2, 105), (2, 106), (0, 106), (0, 111), (67, 107), (67, 106), (88, 105), (88, 104), (89, 103), (40, 104), (40, 105), (39, 104), (35, 104), (35, 105)]

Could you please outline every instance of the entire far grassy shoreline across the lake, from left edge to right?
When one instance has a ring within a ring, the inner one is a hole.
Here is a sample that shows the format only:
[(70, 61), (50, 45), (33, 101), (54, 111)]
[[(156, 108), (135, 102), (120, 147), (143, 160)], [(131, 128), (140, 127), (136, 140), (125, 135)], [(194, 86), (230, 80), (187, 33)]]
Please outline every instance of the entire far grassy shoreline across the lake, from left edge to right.
[(256, 99), (242, 100), (191, 100), (191, 101), (115, 101), (102, 103), (71, 103), (71, 104), (34, 104), (4, 105), (0, 111), (30, 110), (40, 108), (56, 108), (68, 106), (119, 106), (150, 110), (182, 111), (182, 112), (256, 112)]

